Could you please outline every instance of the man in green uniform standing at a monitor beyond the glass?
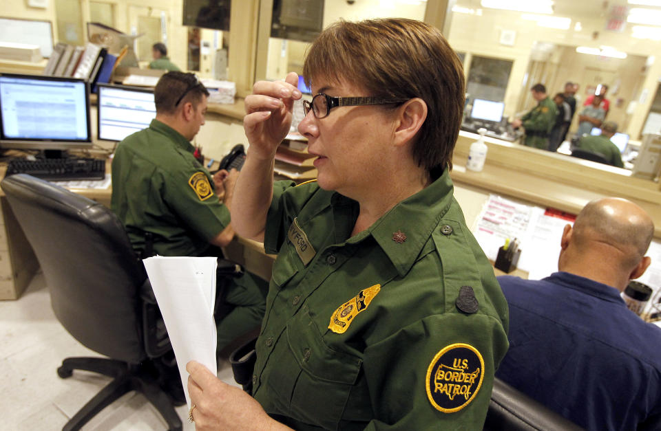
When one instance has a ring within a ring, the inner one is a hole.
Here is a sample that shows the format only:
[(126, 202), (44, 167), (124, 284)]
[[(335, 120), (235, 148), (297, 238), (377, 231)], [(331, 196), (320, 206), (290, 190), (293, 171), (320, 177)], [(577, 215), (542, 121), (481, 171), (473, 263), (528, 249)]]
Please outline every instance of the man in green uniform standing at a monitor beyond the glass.
[(556, 122), (558, 109), (556, 104), (547, 96), (546, 87), (543, 84), (535, 84), (530, 89), (532, 98), (537, 101), (537, 106), (529, 113), (512, 122), (514, 129), (523, 126), (525, 129), (525, 141), (523, 144), (545, 150), (549, 146), (549, 133)]

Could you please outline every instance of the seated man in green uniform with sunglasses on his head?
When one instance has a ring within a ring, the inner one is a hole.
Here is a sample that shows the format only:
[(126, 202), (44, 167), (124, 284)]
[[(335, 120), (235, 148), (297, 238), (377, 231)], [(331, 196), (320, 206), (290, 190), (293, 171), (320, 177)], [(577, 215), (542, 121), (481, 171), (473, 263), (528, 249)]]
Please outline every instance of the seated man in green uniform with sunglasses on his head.
[[(190, 143), (204, 124), (208, 94), (195, 75), (168, 72), (154, 89), (156, 118), (117, 146), (112, 210), (140, 254), (151, 247), (153, 253), (147, 254), (222, 256), (220, 247), (234, 236), (229, 206), (238, 173), (212, 179)], [(225, 302), (233, 309), (218, 324), (218, 351), (259, 326), (266, 282), (246, 273), (233, 278), (226, 292)]]

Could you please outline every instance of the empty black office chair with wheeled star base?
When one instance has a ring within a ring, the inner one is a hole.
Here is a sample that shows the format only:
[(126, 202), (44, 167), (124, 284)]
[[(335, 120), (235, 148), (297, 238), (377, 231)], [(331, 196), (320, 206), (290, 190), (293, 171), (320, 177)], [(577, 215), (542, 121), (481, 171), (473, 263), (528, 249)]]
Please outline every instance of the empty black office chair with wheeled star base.
[(157, 321), (160, 313), (143, 264), (115, 214), (30, 175), (6, 177), (0, 186), (39, 259), (55, 316), (76, 340), (112, 358), (63, 360), (60, 377), (70, 377), (73, 370), (114, 377), (63, 429), (81, 428), (105, 406), (137, 390), (169, 430), (181, 430), (175, 401), (163, 390), (173, 383), (181, 389), (178, 373), (165, 373), (173, 367), (171, 346)]

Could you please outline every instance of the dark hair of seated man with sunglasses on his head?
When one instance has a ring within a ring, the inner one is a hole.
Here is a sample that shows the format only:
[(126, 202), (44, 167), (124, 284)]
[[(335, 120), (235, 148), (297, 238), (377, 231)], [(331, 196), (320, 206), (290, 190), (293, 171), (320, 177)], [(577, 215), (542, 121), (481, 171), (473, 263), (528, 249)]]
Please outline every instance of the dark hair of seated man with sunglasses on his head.
[[(181, 97), (183, 98), (179, 100)], [(209, 91), (195, 74), (181, 71), (169, 71), (158, 80), (154, 88), (156, 113), (172, 114), (187, 102), (197, 107), (202, 96), (209, 96)], [(177, 103), (177, 101), (179, 102)]]

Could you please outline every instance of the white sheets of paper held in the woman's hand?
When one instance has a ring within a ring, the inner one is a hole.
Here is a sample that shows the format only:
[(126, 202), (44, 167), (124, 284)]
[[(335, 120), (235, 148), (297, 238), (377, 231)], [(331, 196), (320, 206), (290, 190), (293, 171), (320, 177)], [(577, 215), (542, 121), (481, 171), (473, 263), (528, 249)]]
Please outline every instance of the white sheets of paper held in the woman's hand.
[(213, 320), (218, 259), (154, 256), (143, 262), (177, 358), (186, 401), (191, 408), (186, 364), (195, 360), (213, 374), (218, 371), (216, 322)]

